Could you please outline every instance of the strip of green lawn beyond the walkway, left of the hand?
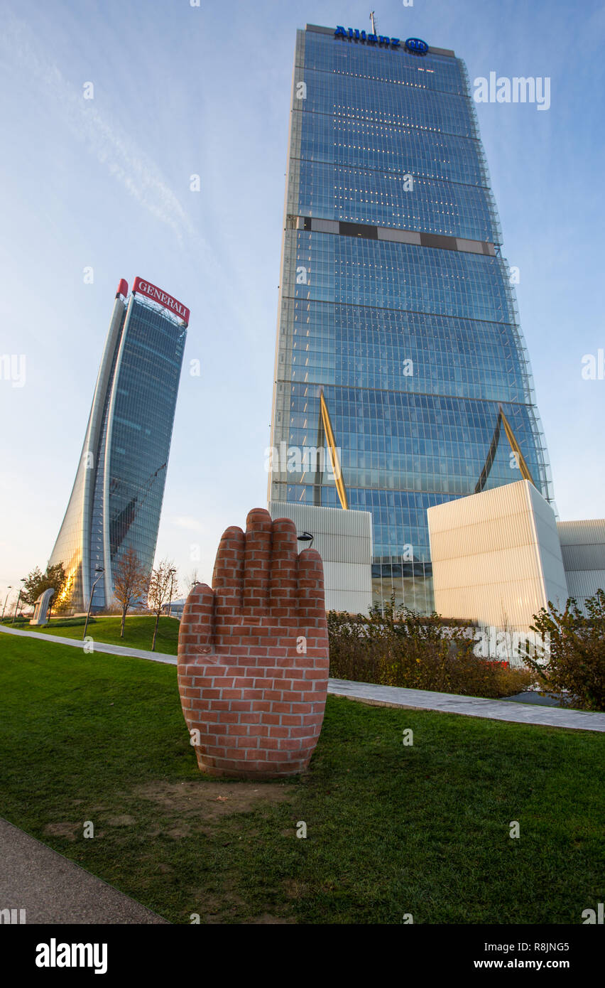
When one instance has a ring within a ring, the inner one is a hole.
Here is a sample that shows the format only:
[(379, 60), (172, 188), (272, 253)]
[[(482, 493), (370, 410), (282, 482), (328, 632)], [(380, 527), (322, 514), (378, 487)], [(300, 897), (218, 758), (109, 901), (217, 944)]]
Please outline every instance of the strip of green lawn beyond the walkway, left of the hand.
[[(60, 619), (58, 618), (58, 620)], [(98, 641), (107, 641), (111, 645), (129, 645), (131, 648), (151, 650), (155, 617), (150, 617), (149, 615), (129, 615), (126, 617), (123, 638), (119, 637), (120, 625), (121, 617), (97, 617), (94, 621), (89, 622), (86, 635), (93, 639), (96, 638)], [(64, 624), (55, 626), (52, 618), (49, 624), (45, 624), (42, 627), (30, 627), (29, 624), (15, 625), (15, 627), (20, 626), (26, 631), (43, 631), (46, 634), (58, 634), (59, 637), (63, 638), (81, 639), (84, 632), (84, 619), (82, 619), (82, 623), (71, 626), (65, 626)], [(175, 617), (160, 617), (156, 652), (176, 655), (178, 645), (179, 621)]]

